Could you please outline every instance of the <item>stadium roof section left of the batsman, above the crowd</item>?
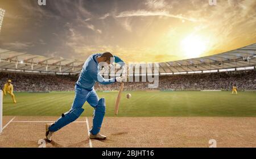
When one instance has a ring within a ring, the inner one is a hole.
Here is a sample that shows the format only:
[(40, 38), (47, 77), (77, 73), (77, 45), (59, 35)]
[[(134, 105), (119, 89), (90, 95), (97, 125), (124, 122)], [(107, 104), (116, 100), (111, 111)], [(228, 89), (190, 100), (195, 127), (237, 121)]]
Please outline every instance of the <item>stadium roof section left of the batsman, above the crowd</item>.
[(0, 49), (0, 69), (44, 73), (77, 73), (84, 61), (44, 57)]

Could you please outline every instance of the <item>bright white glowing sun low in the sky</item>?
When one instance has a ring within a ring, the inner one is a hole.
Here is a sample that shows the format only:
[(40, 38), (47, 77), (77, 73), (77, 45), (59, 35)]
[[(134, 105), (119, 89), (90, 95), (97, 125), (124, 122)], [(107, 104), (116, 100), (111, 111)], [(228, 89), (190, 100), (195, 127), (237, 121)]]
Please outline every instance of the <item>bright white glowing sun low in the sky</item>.
[(206, 50), (206, 42), (196, 35), (189, 35), (181, 41), (181, 48), (186, 58), (196, 58)]

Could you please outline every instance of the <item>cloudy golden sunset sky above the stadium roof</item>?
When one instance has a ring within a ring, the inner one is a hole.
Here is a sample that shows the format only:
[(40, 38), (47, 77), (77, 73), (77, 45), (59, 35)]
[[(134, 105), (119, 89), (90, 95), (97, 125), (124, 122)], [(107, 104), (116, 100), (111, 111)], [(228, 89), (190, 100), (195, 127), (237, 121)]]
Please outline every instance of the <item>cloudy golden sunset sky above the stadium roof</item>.
[(0, 48), (85, 60), (113, 52), (125, 61), (213, 55), (256, 43), (256, 1), (0, 0)]

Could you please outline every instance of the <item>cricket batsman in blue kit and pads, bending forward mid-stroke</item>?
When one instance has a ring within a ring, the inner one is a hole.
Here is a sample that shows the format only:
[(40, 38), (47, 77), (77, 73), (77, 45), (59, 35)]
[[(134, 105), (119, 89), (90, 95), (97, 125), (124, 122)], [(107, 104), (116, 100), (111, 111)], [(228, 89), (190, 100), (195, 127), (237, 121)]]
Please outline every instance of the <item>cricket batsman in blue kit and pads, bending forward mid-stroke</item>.
[[(82, 66), (79, 80), (76, 82), (75, 99), (71, 109), (65, 114), (62, 114), (55, 123), (46, 124), (46, 138), (48, 141), (52, 141), (51, 137), (53, 132), (58, 131), (65, 125), (68, 125), (79, 118), (84, 111), (82, 106), (86, 101), (94, 108), (93, 127), (90, 129), (89, 137), (91, 139), (106, 139), (106, 136), (100, 134), (101, 124), (106, 111), (105, 98), (98, 98), (98, 95), (94, 90), (94, 85), (96, 82), (99, 82), (102, 85), (108, 85), (114, 82), (125, 81), (125, 76), (111, 78), (108, 80), (101, 76), (100, 70), (102, 68), (102, 64), (110, 65), (112, 62), (115, 62), (122, 67), (125, 66), (125, 62), (123, 62), (121, 58), (113, 56), (112, 53), (109, 52), (91, 55), (85, 61), (84, 66)], [(123, 71), (123, 73), (125, 72)]]

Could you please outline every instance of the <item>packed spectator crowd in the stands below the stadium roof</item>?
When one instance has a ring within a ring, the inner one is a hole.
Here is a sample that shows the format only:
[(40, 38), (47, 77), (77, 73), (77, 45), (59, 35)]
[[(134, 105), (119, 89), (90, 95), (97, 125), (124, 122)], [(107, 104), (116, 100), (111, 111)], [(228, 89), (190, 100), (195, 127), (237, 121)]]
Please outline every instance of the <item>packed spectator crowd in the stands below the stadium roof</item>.
[[(1, 87), (9, 79), (13, 81), (14, 91), (17, 92), (73, 91), (78, 76), (0, 72)], [(148, 82), (126, 82), (125, 90), (231, 90), (233, 85), (237, 85), (238, 91), (255, 91), (256, 70), (160, 76), (158, 88), (148, 89), (148, 84)], [(95, 90), (113, 91), (119, 90), (119, 87), (119, 83), (112, 85), (96, 83)]]

